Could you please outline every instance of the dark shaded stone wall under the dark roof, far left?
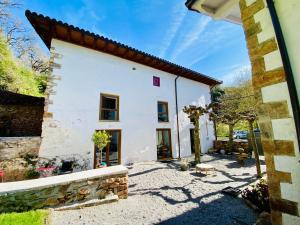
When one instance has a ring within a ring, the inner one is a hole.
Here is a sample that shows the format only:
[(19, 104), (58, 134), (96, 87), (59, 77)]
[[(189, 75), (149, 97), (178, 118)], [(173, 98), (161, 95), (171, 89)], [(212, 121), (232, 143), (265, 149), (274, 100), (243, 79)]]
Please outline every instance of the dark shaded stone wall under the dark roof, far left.
[(43, 113), (43, 106), (0, 104), (0, 137), (40, 136)]

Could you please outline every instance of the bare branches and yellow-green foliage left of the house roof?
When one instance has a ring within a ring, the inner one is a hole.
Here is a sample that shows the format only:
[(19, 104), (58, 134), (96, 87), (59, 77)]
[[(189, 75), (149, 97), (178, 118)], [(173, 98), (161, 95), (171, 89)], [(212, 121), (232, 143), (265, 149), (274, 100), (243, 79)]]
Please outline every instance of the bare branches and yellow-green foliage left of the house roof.
[(0, 89), (42, 96), (48, 59), (36, 47), (31, 33), (11, 14), (20, 0), (0, 0)]

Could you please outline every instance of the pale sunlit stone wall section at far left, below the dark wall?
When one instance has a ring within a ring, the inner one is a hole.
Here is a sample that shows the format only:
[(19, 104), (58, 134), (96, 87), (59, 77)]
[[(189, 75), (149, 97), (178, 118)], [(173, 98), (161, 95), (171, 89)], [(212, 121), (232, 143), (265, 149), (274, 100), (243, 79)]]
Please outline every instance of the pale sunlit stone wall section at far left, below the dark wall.
[(0, 161), (38, 156), (41, 137), (0, 137)]

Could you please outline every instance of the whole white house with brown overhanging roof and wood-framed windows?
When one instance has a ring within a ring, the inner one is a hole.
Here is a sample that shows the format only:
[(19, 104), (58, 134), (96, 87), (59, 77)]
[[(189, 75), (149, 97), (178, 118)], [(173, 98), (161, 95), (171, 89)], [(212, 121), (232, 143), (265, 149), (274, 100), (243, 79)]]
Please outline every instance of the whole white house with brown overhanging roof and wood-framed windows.
[[(108, 165), (191, 155), (193, 125), (182, 109), (209, 104), (219, 81), (49, 17), (26, 16), (52, 55), (41, 157), (73, 157), (92, 168), (95, 130), (112, 135), (103, 151)], [(203, 152), (213, 140), (203, 116)]]

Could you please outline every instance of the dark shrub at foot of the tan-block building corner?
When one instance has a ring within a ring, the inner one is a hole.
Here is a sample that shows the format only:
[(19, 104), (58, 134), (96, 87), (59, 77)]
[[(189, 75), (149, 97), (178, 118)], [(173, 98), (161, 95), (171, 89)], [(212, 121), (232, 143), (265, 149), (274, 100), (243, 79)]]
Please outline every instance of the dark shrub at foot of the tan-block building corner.
[(260, 179), (256, 184), (242, 191), (242, 197), (254, 204), (260, 211), (270, 212), (267, 181)]

